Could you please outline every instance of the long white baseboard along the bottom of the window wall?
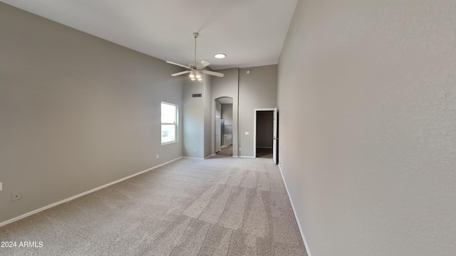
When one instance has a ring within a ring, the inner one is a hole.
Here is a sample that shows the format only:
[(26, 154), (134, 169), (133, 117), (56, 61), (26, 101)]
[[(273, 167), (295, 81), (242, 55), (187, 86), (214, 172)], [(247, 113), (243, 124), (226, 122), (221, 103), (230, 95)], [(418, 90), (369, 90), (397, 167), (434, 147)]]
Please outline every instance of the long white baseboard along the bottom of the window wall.
[(30, 216), (30, 215), (35, 214), (35, 213), (39, 213), (39, 212), (41, 212), (41, 211), (43, 211), (43, 210), (47, 210), (48, 208), (52, 208), (52, 207), (54, 207), (54, 206), (58, 206), (58, 205), (61, 204), (61, 203), (66, 203), (66, 202), (68, 202), (68, 201), (71, 201), (71, 200), (73, 200), (73, 199), (79, 198), (79, 197), (81, 197), (81, 196), (86, 196), (86, 195), (89, 194), (89, 193), (98, 191), (98, 190), (100, 190), (100, 189), (102, 189), (102, 188), (105, 188), (105, 187), (107, 187), (107, 186), (114, 185), (115, 183), (119, 183), (120, 181), (125, 181), (125, 180), (128, 179), (128, 178), (133, 178), (134, 176), (138, 176), (138, 175), (140, 175), (140, 174), (144, 174), (144, 173), (147, 172), (147, 171), (151, 171), (151, 170), (156, 169), (156, 168), (158, 168), (158, 167), (160, 167), (160, 166), (164, 166), (165, 164), (170, 164), (171, 162), (177, 161), (177, 160), (179, 160), (179, 159), (182, 159), (182, 156), (178, 157), (177, 159), (173, 159), (173, 160), (171, 160), (171, 161), (167, 161), (167, 162), (165, 162), (165, 163), (163, 163), (163, 164), (159, 164), (159, 165), (154, 166), (154, 167), (152, 167), (152, 168), (149, 168), (149, 169), (147, 169), (147, 170), (140, 171), (140, 172), (138, 172), (137, 174), (132, 174), (132, 175), (127, 176), (127, 177), (125, 177), (125, 178), (120, 178), (120, 179), (118, 179), (117, 181), (113, 181), (113, 182), (108, 183), (108, 184), (105, 184), (105, 185), (103, 185), (103, 186), (99, 186), (98, 188), (90, 189), (90, 191), (86, 191), (86, 192), (80, 193), (80, 194), (78, 194), (78, 195), (76, 195), (76, 196), (71, 196), (70, 198), (63, 199), (62, 201), (58, 201), (58, 202), (56, 202), (56, 203), (51, 203), (51, 204), (48, 205), (48, 206), (44, 206), (44, 207), (38, 208), (38, 209), (36, 209), (36, 210), (32, 210), (31, 212), (24, 213), (23, 215), (19, 215), (19, 216), (15, 217), (15, 218), (12, 218), (12, 219), (10, 219), (10, 220), (5, 220), (4, 222), (0, 223), (0, 227), (1, 227), (1, 226), (4, 226), (4, 225), (6, 225), (6, 224), (9, 224), (9, 223), (14, 223), (14, 222), (17, 221), (17, 220), (21, 220), (21, 219), (26, 218), (26, 217), (28, 217), (28, 216)]

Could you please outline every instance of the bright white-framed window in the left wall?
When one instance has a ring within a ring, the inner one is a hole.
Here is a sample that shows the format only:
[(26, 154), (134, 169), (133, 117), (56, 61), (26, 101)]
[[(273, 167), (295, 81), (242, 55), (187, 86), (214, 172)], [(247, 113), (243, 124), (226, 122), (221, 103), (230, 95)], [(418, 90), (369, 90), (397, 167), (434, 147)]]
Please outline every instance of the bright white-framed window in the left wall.
[(162, 102), (162, 144), (177, 142), (177, 105)]

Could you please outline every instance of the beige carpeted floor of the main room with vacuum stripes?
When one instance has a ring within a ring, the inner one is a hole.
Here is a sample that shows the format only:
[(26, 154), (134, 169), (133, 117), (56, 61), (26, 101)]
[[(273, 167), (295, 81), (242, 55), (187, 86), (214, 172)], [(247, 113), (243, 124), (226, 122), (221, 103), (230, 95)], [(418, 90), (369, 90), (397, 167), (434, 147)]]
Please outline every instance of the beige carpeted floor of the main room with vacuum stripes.
[(180, 159), (5, 225), (0, 241), (16, 242), (0, 255), (306, 255), (278, 167), (220, 156)]

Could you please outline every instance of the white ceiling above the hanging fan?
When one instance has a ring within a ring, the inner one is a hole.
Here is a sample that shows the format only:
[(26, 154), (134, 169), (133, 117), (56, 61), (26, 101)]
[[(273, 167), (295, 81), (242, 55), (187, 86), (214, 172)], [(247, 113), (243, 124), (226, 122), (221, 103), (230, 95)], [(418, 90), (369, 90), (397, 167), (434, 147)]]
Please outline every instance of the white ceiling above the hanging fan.
[[(276, 64), (298, 0), (0, 0), (66, 26), (187, 65)], [(215, 53), (225, 53), (218, 60)]]

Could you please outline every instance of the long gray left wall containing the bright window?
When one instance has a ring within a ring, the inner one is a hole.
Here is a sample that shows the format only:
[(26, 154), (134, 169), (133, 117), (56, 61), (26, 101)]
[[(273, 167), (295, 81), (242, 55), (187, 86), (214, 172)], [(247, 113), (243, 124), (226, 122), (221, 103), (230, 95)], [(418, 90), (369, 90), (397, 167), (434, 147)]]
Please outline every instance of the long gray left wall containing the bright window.
[(182, 156), (179, 68), (1, 3), (0, 34), (0, 223)]

